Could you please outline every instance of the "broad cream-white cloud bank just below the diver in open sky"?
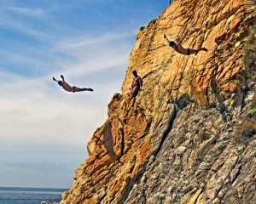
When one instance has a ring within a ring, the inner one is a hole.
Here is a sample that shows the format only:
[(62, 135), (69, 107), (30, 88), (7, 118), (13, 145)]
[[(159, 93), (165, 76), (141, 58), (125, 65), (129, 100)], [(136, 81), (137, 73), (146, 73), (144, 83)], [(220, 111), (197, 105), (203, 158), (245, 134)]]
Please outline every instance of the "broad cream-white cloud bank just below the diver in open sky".
[(17, 82), (1, 91), (2, 145), (61, 143), (79, 146), (82, 142), (84, 146), (85, 137), (88, 141), (106, 117), (108, 94), (112, 95), (111, 88), (102, 89), (106, 97), (101, 101), (103, 106), (95, 103), (94, 94), (66, 94), (58, 87), (49, 89), (39, 84), (38, 88), (29, 88), (28, 84)]

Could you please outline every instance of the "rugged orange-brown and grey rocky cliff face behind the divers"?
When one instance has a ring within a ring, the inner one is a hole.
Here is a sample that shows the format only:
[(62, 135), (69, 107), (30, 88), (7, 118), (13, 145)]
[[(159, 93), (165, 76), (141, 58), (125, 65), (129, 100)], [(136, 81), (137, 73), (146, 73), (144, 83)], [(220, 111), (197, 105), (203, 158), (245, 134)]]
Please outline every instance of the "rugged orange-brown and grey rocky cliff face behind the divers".
[[(208, 52), (177, 54), (165, 33)], [(255, 1), (174, 1), (138, 31), (123, 94), (61, 203), (255, 203), (255, 59)]]

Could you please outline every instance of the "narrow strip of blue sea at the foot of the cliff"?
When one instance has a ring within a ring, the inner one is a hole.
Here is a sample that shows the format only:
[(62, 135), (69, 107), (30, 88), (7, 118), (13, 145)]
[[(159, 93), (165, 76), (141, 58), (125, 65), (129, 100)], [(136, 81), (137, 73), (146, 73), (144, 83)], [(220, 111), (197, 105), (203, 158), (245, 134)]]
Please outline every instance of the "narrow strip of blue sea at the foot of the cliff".
[(61, 201), (65, 189), (0, 187), (0, 204), (41, 204), (41, 201)]

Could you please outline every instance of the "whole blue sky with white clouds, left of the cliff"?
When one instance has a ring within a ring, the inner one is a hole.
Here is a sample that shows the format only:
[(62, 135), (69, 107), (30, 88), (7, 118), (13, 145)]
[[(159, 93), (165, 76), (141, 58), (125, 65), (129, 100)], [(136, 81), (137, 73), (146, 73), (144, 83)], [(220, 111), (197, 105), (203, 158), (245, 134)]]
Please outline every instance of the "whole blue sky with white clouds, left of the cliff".
[[(68, 188), (167, 0), (0, 0), (0, 186)], [(94, 93), (64, 92), (52, 77)]]

